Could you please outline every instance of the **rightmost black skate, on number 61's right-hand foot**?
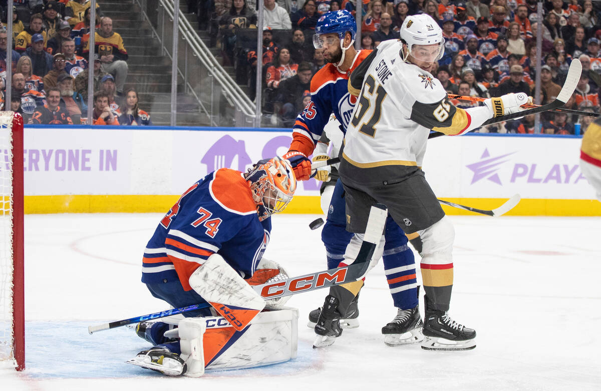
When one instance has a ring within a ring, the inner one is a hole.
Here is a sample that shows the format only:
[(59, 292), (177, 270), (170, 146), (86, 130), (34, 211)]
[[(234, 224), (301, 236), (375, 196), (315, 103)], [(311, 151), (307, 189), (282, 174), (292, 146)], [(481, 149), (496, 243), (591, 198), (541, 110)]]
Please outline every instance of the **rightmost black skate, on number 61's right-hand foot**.
[(427, 296), (424, 318), (424, 342), (426, 350), (470, 350), (476, 347), (476, 331), (457, 323), (446, 311), (430, 308)]

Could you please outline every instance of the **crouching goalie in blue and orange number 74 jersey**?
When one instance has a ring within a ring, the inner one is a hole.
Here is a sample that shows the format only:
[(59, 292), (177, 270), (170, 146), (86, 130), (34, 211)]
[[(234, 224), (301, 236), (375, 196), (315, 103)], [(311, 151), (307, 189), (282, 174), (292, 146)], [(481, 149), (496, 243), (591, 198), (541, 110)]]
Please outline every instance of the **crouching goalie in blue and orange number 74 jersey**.
[[(161, 219), (144, 250), (142, 282), (174, 308), (212, 306), (185, 312), (186, 317), (216, 312), (234, 329), (244, 329), (265, 306), (249, 279), (269, 242), (270, 215), (284, 210), (294, 190), (293, 169), (279, 157), (260, 161), (247, 173), (224, 168), (205, 176)], [(234, 311), (234, 318), (228, 316)], [(193, 368), (194, 360), (185, 365), (180, 353), (189, 356), (191, 345), (166, 338), (168, 329), (164, 322), (139, 323), (136, 333), (155, 347), (129, 363), (170, 375), (204, 371), (204, 364)], [(179, 330), (182, 338), (181, 323)]]

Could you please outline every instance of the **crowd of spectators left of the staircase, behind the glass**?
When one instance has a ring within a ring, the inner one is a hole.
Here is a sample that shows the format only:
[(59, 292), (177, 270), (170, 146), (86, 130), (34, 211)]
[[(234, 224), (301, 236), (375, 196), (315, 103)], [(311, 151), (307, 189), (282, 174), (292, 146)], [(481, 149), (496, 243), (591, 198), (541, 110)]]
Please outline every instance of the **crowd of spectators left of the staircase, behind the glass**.
[[(93, 106), (88, 110), (90, 54), (89, 0), (15, 0), (12, 12), (3, 2), (0, 26), (0, 110), (19, 112), (28, 124), (152, 125), (138, 107), (135, 89), (124, 89), (127, 50), (96, 4)], [(8, 50), (5, 25), (13, 21)], [(6, 86), (7, 53), (11, 86)], [(5, 102), (10, 88), (11, 101)]]

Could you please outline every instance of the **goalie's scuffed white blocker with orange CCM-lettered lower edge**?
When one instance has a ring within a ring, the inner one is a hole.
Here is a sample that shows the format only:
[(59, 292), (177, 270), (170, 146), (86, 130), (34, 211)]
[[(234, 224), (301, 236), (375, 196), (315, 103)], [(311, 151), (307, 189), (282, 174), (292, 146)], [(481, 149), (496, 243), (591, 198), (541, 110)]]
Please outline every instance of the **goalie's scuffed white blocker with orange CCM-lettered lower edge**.
[(242, 330), (263, 308), (265, 300), (228, 265), (213, 254), (189, 278), (192, 289), (207, 300), (236, 330)]

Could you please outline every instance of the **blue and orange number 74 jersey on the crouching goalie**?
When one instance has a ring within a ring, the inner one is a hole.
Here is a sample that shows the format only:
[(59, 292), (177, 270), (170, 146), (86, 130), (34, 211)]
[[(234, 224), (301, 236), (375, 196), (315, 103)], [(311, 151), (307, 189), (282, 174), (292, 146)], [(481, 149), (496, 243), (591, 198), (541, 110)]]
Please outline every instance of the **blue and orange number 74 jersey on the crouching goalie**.
[(249, 278), (270, 231), (271, 219), (259, 221), (242, 173), (219, 169), (192, 185), (160, 221), (144, 250), (142, 282), (179, 279), (189, 291), (190, 276), (215, 252)]

